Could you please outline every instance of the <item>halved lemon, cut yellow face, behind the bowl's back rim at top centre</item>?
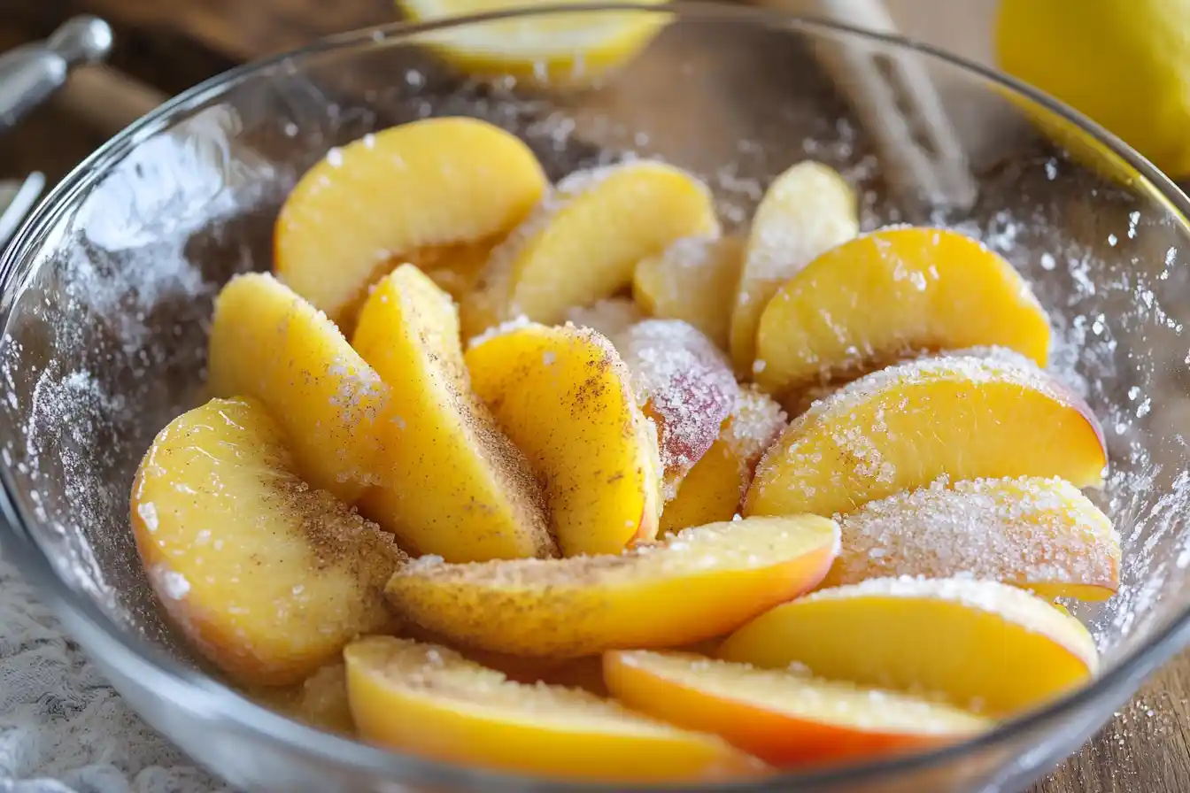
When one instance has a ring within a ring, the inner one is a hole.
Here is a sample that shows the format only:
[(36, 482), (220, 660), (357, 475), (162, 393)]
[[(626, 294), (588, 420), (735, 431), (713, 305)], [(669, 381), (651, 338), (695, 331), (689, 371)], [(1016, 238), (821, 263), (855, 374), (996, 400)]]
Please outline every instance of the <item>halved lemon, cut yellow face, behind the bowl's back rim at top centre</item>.
[[(662, 5), (663, 0), (644, 2)], [(582, 0), (396, 0), (411, 21), (558, 5), (582, 5)], [(419, 38), (470, 73), (574, 87), (595, 82), (627, 62), (671, 19), (672, 14), (633, 8), (526, 14), (430, 31)]]

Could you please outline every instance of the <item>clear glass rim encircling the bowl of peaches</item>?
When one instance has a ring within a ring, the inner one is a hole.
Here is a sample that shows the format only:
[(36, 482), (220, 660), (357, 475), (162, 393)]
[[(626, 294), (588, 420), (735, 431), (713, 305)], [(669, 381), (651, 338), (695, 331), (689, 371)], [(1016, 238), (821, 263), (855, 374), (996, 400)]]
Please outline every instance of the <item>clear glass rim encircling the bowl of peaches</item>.
[[(979, 78), (989, 83), (990, 87), (1007, 90), (1009, 95), (1023, 97), (1029, 103), (1039, 106), (1060, 120), (1072, 124), (1078, 131), (1086, 133), (1094, 141), (1106, 146), (1111, 155), (1120, 157), (1133, 169), (1136, 176), (1142, 180), (1142, 184), (1135, 187), (1151, 188), (1155, 193), (1155, 200), (1177, 214), (1183, 228), (1190, 234), (1190, 220), (1188, 220), (1190, 218), (1190, 199), (1167, 176), (1119, 137), (1078, 111), (1010, 75), (931, 44), (900, 34), (868, 31), (813, 15), (791, 14), (756, 6), (694, 0), (671, 0), (664, 5), (612, 1), (541, 5), (447, 17), (433, 21), (395, 21), (336, 33), (320, 38), (307, 46), (252, 61), (215, 75), (164, 102), (76, 165), (42, 201), (40, 206), (25, 219), (7, 248), (0, 251), (0, 319), (2, 319), (5, 328), (11, 319), (17, 296), (24, 291), (25, 283), (36, 269), (33, 265), (39, 260), (38, 244), (44, 241), (64, 213), (76, 208), (76, 199), (93, 185), (99, 176), (106, 172), (106, 166), (123, 159), (129, 151), (144, 140), (168, 130), (175, 117), (217, 100), (240, 81), (269, 68), (289, 62), (296, 64), (311, 56), (338, 49), (401, 45), (403, 40), (433, 31), (521, 17), (608, 11), (666, 14), (677, 19), (703, 23), (724, 20), (735, 24), (753, 24), (759, 27), (804, 33), (813, 37), (863, 40), (894, 51), (917, 52), (928, 59), (958, 69), (967, 77)], [(7, 333), (5, 333), (6, 338)], [(234, 688), (178, 662), (161, 649), (120, 628), (94, 600), (63, 580), (57, 574), (46, 549), (29, 530), (29, 524), (36, 523), (36, 521), (32, 516), (23, 514), (18, 493), (12, 466), (0, 462), (0, 524), (4, 524), (0, 540), (4, 541), (2, 549), (10, 560), (17, 564), (21, 573), (37, 586), (39, 597), (54, 608), (64, 627), (71, 632), (86, 637), (87, 641), (83, 641), (83, 644), (92, 655), (101, 656), (101, 665), (111, 665), (111, 668), (118, 669), (121, 676), (136, 678), (142, 686), (152, 688), (158, 697), (167, 698), (168, 701), (176, 703), (194, 713), (253, 732), (255, 738), (276, 744), (281, 750), (301, 753), (305, 757), (336, 767), (336, 770), (340, 773), (362, 772), (393, 782), (458, 786), (461, 788), (481, 787), (489, 791), (808, 792), (820, 789), (822, 786), (875, 781), (889, 775), (939, 768), (945, 763), (960, 760), (970, 753), (992, 749), (1010, 741), (1016, 734), (1060, 722), (1097, 700), (1101, 696), (1110, 696), (1113, 692), (1122, 690), (1127, 690), (1128, 696), (1130, 696), (1144, 678), (1190, 640), (1190, 604), (1188, 604), (1175, 618), (1167, 619), (1155, 630), (1147, 642), (1130, 648), (1114, 667), (1094, 678), (1089, 685), (1042, 707), (1007, 719), (988, 732), (931, 751), (868, 763), (832, 766), (809, 773), (785, 773), (753, 781), (684, 783), (681, 786), (570, 782), (425, 760), (416, 755), (396, 753), (352, 738), (327, 734), (256, 704)]]

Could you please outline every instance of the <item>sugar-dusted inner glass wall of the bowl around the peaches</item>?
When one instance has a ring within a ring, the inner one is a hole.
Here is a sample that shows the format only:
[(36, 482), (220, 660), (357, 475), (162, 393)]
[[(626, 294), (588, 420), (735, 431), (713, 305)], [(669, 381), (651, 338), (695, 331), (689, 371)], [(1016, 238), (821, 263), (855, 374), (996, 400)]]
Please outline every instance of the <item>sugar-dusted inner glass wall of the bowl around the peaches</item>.
[(138, 564), (129, 486), (152, 436), (201, 398), (219, 287), (270, 266), (280, 202), (330, 147), (453, 114), (521, 136), (553, 180), (627, 157), (690, 169), (735, 229), (776, 175), (819, 159), (857, 188), (865, 229), (932, 222), (1004, 254), (1051, 311), (1053, 369), (1096, 410), (1110, 448), (1110, 476), (1094, 498), (1122, 536), (1123, 586), (1106, 604), (1071, 608), (1108, 668), (1183, 618), (1190, 237), (1161, 197), (1167, 184), (1134, 170), (1108, 178), (1021, 134), (998, 151), (971, 149), (972, 207), (922, 204), (894, 189), (887, 152), (814, 48), (912, 58), (960, 106), (995, 107), (1007, 120), (1041, 111), (944, 59), (843, 31), (683, 15), (585, 87), (466, 74), (427, 46), (434, 36), (344, 37), (187, 96), (68, 180), (8, 252), (0, 454), (18, 534), (112, 631), (194, 663)]

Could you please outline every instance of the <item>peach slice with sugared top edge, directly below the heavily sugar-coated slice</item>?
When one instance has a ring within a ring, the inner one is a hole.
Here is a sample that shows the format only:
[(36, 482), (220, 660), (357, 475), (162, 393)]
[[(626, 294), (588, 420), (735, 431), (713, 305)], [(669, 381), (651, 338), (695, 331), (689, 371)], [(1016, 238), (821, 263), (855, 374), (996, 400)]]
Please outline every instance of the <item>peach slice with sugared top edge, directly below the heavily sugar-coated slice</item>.
[(927, 692), (994, 717), (1086, 682), (1095, 641), (1077, 619), (998, 581), (873, 578), (764, 613), (719, 650), (765, 668)]

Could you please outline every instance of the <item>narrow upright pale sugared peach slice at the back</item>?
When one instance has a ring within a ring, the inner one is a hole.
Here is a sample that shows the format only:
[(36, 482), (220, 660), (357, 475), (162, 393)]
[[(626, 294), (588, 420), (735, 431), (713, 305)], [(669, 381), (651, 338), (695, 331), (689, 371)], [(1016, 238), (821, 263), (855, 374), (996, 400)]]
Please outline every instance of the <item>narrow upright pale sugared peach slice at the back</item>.
[(833, 169), (797, 163), (778, 176), (752, 216), (729, 331), (732, 360), (752, 375), (760, 315), (781, 284), (859, 233), (856, 194)]

